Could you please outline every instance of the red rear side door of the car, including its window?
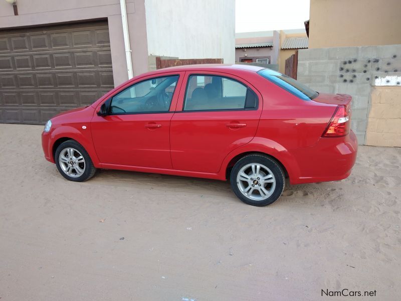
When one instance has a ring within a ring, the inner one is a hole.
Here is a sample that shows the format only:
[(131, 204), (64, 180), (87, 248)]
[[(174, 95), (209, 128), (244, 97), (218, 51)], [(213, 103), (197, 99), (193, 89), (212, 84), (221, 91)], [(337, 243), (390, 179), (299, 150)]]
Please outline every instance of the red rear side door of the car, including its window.
[(262, 96), (245, 80), (218, 72), (186, 72), (171, 119), (170, 147), (176, 170), (217, 173), (224, 158), (252, 140)]

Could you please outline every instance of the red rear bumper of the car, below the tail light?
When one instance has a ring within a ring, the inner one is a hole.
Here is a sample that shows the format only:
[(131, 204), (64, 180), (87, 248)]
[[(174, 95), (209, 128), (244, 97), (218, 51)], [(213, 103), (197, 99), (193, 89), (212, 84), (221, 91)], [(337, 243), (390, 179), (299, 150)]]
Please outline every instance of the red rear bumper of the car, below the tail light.
[(354, 132), (344, 137), (322, 137), (311, 147), (295, 149), (292, 155), (299, 165), (299, 177), (291, 184), (338, 181), (351, 174), (355, 164), (358, 141)]

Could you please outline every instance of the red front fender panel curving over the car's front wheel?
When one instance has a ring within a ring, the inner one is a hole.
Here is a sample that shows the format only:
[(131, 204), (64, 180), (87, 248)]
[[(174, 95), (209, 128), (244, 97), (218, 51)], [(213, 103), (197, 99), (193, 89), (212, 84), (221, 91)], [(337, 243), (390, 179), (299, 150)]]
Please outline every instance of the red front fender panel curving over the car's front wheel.
[(86, 122), (86, 129), (82, 129), (82, 122), (78, 124), (74, 123), (74, 125), (76, 125), (76, 127), (72, 125), (60, 125), (51, 132), (50, 141), (52, 142), (49, 145), (49, 154), (51, 154), (52, 160), (55, 160), (53, 154), (54, 143), (60, 138), (71, 138), (76, 140), (85, 148), (93, 162), (93, 165), (96, 168), (100, 168), (100, 161), (96, 155), (95, 147), (92, 142), (90, 122)]

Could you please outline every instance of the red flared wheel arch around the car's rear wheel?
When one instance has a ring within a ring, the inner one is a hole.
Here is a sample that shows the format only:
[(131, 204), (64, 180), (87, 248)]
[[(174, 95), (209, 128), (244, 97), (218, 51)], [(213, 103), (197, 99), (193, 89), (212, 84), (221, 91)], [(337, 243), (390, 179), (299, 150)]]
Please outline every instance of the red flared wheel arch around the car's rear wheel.
[(280, 143), (264, 137), (254, 137), (249, 143), (242, 145), (229, 153), (223, 160), (219, 171), (219, 178), (226, 178), (226, 171), (230, 162), (237, 156), (245, 153), (263, 153), (278, 160), (287, 170), (290, 183), (299, 178), (299, 166), (294, 156)]

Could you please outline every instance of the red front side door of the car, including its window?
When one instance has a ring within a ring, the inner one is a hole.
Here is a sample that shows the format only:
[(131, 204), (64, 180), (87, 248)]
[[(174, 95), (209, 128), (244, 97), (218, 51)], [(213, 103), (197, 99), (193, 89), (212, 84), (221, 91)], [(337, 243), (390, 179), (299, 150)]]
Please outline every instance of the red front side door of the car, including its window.
[(95, 114), (91, 122), (94, 147), (102, 164), (172, 168), (170, 120), (183, 74), (141, 78), (104, 102), (107, 115)]

